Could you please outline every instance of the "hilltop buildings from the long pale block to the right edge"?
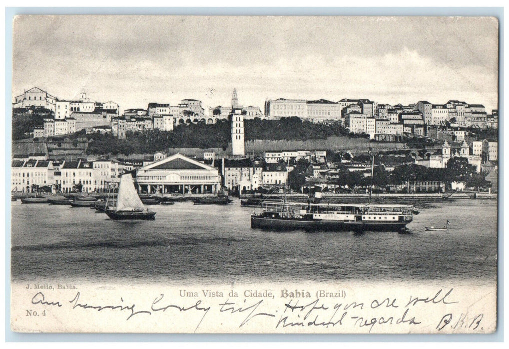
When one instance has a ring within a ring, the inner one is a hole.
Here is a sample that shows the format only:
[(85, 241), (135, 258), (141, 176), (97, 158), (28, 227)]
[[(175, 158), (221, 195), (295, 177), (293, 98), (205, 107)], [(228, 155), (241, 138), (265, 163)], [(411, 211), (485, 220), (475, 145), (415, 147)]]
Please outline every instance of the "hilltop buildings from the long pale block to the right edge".
[(426, 136), (429, 126), (449, 123), (453, 128), (497, 128), (498, 111), (488, 114), (480, 104), (448, 101), (443, 105), (419, 101), (404, 106), (378, 104), (366, 99), (306, 101), (279, 98), (265, 102), (265, 117), (298, 116), (312, 122), (341, 121), (351, 133), (380, 141), (402, 141), (403, 135)]

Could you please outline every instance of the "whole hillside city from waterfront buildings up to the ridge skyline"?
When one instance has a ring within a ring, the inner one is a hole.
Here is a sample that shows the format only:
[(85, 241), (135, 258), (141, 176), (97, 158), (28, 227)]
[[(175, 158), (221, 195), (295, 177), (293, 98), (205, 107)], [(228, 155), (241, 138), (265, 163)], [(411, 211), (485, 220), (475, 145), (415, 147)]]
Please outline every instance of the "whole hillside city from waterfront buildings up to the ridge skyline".
[(498, 111), (482, 104), (278, 98), (262, 112), (236, 89), (227, 104), (121, 111), (30, 88), (13, 103), (11, 190), (105, 193), (131, 172), (159, 195), (497, 192)]

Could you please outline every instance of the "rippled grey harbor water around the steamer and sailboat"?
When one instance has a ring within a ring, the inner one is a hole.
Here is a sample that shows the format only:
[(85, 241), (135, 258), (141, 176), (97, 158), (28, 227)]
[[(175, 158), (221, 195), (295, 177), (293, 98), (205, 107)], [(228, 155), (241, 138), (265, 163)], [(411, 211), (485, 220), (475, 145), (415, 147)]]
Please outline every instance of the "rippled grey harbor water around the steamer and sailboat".
[[(120, 222), (90, 208), (12, 203), (13, 281), (285, 282), (469, 280), (497, 272), (496, 200), (420, 203), (398, 232), (270, 232), (253, 208), (150, 206), (153, 221)], [(449, 230), (425, 231), (425, 226)]]

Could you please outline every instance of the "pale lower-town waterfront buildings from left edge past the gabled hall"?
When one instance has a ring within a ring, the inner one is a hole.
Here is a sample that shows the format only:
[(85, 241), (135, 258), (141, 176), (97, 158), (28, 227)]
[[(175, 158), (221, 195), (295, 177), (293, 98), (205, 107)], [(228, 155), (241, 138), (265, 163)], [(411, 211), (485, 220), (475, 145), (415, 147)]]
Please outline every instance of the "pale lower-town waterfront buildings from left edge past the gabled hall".
[(197, 160), (182, 154), (156, 153), (144, 160), (49, 160), (44, 154), (15, 155), (11, 163), (14, 192), (105, 193), (118, 186), (124, 172), (136, 173), (139, 193), (213, 194), (222, 187), (244, 191), (287, 181), (287, 166), (253, 162), (249, 158)]

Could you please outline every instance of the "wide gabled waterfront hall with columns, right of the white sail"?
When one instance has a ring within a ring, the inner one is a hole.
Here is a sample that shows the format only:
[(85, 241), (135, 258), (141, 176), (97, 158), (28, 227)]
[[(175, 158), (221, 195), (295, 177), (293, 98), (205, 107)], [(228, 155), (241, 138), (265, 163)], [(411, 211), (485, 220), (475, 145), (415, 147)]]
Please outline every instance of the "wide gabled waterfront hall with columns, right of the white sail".
[(215, 167), (175, 154), (139, 168), (136, 173), (140, 193), (217, 193), (221, 176)]

